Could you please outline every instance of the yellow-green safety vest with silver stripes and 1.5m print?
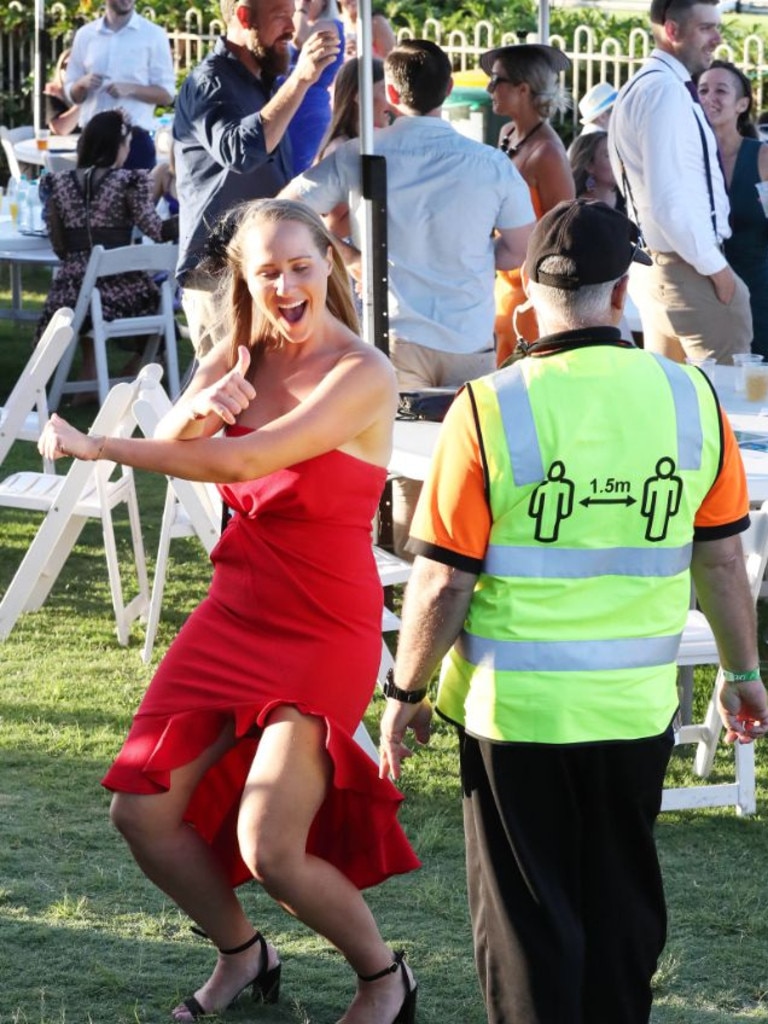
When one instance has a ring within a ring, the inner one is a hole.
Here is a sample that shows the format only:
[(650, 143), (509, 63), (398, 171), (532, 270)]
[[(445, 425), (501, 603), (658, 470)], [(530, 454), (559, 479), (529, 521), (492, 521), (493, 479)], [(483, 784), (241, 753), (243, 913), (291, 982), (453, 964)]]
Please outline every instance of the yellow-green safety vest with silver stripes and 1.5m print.
[(677, 707), (693, 518), (722, 458), (708, 382), (600, 344), (469, 386), (493, 526), (438, 710), (502, 741), (658, 734)]

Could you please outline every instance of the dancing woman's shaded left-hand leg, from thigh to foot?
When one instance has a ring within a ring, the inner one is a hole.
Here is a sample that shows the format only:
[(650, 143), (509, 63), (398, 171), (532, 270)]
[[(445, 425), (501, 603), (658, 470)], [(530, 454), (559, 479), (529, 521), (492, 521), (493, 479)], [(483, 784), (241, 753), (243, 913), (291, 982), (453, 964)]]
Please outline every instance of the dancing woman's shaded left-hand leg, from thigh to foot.
[[(144, 874), (222, 949), (247, 942), (254, 928), (210, 847), (184, 824), (183, 814), (202, 776), (232, 741), (231, 727), (227, 727), (196, 761), (171, 773), (167, 793), (118, 793), (112, 805), (113, 820)], [(208, 1012), (223, 1009), (259, 972), (260, 962), (258, 944), (234, 956), (219, 955), (196, 998)], [(269, 947), (268, 966), (276, 963), (278, 954)], [(177, 1007), (174, 1015), (180, 1021), (191, 1020), (183, 1007)]]

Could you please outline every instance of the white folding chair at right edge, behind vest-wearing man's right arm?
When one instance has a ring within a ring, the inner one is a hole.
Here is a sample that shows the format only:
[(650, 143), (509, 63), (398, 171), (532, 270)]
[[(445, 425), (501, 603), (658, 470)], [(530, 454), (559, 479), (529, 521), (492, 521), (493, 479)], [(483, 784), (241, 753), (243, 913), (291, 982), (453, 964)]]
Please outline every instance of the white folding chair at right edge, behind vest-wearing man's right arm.
[[(750, 589), (754, 600), (757, 601), (768, 563), (768, 502), (765, 502), (758, 511), (751, 512), (750, 518), (751, 525), (749, 530), (741, 535), (741, 544)], [(688, 621), (683, 631), (678, 665), (686, 667), (719, 664), (720, 656), (712, 629), (702, 612), (693, 608), (688, 612)], [(699, 778), (707, 778), (712, 771), (720, 741), (722, 723), (717, 709), (717, 693), (721, 683), (721, 672), (718, 670), (703, 722), (681, 725), (675, 731), (676, 744), (696, 744), (693, 771)], [(756, 809), (755, 749), (752, 744), (735, 743), (733, 752), (735, 760), (733, 782), (665, 788), (662, 810), (735, 806), (737, 814), (753, 814)]]

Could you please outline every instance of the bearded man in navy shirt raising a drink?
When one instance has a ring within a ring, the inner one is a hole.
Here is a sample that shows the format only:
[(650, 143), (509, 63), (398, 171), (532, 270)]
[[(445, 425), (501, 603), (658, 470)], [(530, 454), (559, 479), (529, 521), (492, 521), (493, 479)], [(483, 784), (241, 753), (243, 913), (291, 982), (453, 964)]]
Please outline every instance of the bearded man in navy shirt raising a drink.
[(226, 33), (189, 73), (173, 123), (179, 198), (182, 304), (198, 356), (221, 337), (215, 273), (200, 266), (206, 241), (232, 207), (276, 196), (291, 178), (287, 128), (306, 90), (339, 52), (335, 31), (317, 32), (288, 71), (293, 0), (222, 0)]

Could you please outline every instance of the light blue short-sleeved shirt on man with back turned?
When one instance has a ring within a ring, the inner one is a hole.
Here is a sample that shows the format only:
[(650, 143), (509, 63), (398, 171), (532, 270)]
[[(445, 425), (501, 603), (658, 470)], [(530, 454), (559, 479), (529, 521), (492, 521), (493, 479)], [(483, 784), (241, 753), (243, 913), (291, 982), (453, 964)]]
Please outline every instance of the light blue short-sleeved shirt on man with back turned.
[[(401, 117), (376, 132), (387, 162), (389, 326), (395, 339), (467, 354), (494, 342), (494, 228), (534, 221), (528, 187), (501, 151), (437, 117)], [(361, 212), (358, 140), (289, 185), (318, 213)], [(354, 238), (359, 246), (359, 238)]]

